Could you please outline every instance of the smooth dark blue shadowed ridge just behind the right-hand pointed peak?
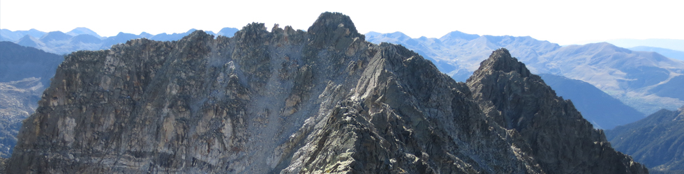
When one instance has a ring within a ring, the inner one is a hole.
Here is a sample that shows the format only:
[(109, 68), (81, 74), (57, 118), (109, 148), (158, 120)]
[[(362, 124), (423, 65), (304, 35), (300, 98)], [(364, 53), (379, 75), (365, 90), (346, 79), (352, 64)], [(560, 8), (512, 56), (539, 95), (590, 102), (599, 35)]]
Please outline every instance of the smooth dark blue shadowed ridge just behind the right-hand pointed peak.
[(582, 116), (597, 129), (613, 129), (645, 117), (644, 113), (584, 81), (552, 74), (540, 74), (540, 77), (544, 79), (544, 83), (556, 90), (558, 96), (572, 100)]

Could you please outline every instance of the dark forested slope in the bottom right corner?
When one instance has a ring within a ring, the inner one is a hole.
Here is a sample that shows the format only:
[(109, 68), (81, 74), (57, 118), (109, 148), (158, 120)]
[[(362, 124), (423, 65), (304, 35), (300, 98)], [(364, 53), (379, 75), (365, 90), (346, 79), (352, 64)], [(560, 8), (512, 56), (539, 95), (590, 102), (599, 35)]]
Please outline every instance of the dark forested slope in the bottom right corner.
[(606, 131), (616, 150), (634, 157), (652, 171), (684, 172), (684, 107)]

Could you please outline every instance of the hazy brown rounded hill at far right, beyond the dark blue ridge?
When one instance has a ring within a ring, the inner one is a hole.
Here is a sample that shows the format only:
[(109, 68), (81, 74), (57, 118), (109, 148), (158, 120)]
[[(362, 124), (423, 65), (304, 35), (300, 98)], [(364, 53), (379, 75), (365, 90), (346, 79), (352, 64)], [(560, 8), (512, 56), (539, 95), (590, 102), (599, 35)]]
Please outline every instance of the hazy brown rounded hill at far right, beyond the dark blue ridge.
[(684, 83), (682, 79), (674, 78), (684, 73), (684, 61), (654, 52), (633, 52), (605, 42), (570, 45), (530, 64), (546, 66), (570, 79), (586, 81), (642, 113), (684, 105), (684, 98), (672, 96), (684, 93), (684, 88), (670, 90), (673, 93), (653, 91)]

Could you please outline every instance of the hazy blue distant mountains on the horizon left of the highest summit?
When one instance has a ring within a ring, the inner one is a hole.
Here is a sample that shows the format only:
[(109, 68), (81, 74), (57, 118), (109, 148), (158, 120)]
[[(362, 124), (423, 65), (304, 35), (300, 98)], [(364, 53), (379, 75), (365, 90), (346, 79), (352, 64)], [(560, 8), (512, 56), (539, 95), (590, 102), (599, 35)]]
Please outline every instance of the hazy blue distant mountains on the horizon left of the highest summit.
[[(193, 31), (196, 31), (196, 29), (191, 29), (185, 33), (160, 33), (157, 35), (151, 35), (150, 33), (145, 32), (142, 32), (139, 35), (119, 33), (112, 37), (101, 37), (95, 31), (84, 27), (73, 29), (67, 33), (61, 31), (45, 33), (36, 29), (31, 29), (29, 31), (10, 31), (2, 29), (0, 32), (0, 41), (15, 42), (18, 45), (35, 47), (54, 54), (68, 54), (79, 50), (109, 49), (112, 45), (137, 38), (148, 38), (150, 40), (158, 41), (179, 40)], [(218, 33), (211, 31), (205, 32), (211, 35), (232, 37), (236, 31), (238, 31), (238, 29), (226, 27), (221, 29)]]

